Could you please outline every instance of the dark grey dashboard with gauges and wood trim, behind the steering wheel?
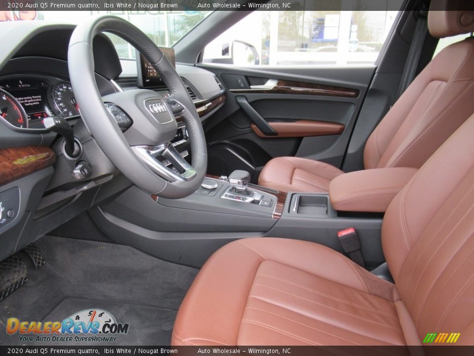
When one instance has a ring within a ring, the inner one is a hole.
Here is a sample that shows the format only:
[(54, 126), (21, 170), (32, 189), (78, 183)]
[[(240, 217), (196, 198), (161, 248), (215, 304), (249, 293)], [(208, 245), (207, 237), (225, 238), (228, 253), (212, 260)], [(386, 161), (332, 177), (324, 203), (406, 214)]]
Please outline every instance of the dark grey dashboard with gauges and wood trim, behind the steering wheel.
[[(80, 117), (69, 81), (73, 30), (73, 25), (43, 21), (0, 22), (0, 202), (12, 211), (11, 217), (0, 220), (0, 260), (131, 186)], [(107, 36), (96, 36), (93, 50), (101, 96), (144, 87), (136, 74), (120, 76), (122, 66)], [(144, 75), (156, 77), (142, 64), (142, 83)], [(201, 121), (224, 105), (226, 90), (213, 73), (181, 63), (176, 70)], [(157, 95), (169, 96), (162, 83), (148, 84)], [(77, 158), (65, 154), (62, 136), (45, 129), (43, 120), (51, 116), (62, 117), (73, 128), (80, 148)], [(171, 143), (189, 161), (186, 124), (179, 115), (176, 121), (178, 131)], [(82, 173), (84, 167), (88, 174)]]

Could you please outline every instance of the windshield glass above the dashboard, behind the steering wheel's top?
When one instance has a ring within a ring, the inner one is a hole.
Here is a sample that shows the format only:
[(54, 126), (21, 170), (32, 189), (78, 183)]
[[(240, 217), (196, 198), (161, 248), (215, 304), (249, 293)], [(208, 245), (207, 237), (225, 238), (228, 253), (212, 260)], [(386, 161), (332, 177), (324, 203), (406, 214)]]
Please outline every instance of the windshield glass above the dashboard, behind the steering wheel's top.
[[(0, 11), (0, 21), (44, 20), (79, 24), (93, 15), (115, 15), (145, 32), (158, 46), (172, 47), (211, 11)], [(120, 59), (135, 59), (135, 49), (107, 34)]]

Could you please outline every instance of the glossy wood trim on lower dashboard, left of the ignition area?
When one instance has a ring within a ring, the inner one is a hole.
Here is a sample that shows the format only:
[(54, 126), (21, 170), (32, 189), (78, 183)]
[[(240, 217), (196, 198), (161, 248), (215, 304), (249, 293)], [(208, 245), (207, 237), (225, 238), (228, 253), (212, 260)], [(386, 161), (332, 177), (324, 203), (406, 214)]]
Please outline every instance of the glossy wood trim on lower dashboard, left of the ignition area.
[(0, 185), (52, 166), (54, 152), (45, 146), (0, 149)]

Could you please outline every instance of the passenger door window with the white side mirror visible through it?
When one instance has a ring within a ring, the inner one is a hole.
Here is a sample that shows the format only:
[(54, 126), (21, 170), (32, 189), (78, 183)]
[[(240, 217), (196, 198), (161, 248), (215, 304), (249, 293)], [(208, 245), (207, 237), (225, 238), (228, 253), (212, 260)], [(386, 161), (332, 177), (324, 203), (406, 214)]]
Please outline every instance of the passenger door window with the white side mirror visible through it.
[(204, 63), (374, 63), (398, 11), (254, 11), (204, 48)]

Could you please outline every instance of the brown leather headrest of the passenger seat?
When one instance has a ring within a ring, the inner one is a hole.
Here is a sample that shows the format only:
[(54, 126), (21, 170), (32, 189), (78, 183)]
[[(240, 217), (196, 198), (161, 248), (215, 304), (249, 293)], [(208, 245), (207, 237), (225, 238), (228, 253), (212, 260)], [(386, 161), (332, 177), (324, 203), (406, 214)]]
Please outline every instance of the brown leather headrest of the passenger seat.
[(435, 38), (473, 32), (473, 0), (432, 0), (428, 13), (428, 29)]

